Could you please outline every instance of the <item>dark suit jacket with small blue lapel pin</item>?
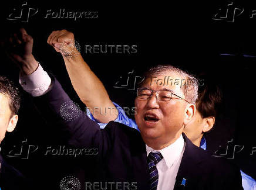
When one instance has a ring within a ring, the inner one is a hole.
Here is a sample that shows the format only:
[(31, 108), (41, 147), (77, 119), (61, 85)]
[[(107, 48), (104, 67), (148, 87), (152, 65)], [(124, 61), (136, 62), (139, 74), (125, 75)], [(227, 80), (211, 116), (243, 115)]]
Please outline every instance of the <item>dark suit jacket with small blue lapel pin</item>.
[[(83, 112), (80, 112), (78, 119), (63, 121), (59, 109), (70, 99), (58, 81), (52, 82), (52, 89), (47, 94), (35, 98), (36, 105), (47, 113), (46, 117), (54, 115), (56, 122), (63, 122), (63, 129), (70, 134), (70, 144), (99, 148), (97, 163), (100, 164), (100, 180), (137, 182), (138, 189), (150, 189), (146, 144), (140, 133), (116, 122), (110, 122), (104, 130), (100, 130)], [(238, 169), (194, 146), (184, 134), (183, 139), (186, 145), (174, 189), (242, 189)]]

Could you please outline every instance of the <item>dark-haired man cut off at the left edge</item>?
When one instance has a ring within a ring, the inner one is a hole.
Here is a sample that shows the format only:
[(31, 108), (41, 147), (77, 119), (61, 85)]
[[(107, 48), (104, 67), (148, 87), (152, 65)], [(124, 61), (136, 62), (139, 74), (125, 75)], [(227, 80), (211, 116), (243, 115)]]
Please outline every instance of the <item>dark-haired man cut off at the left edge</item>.
[[(18, 122), (20, 98), (18, 88), (8, 78), (0, 76), (0, 143), (6, 132), (12, 132)], [(0, 188), (27, 189), (27, 179), (0, 155)]]

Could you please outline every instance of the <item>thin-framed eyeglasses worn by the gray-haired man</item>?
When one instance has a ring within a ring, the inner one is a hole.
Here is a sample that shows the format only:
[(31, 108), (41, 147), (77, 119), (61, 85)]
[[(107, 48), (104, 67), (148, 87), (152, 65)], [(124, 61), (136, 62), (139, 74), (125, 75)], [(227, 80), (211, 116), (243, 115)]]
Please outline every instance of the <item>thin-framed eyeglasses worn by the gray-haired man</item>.
[[(183, 99), (184, 101), (186, 101), (186, 99), (181, 98), (180, 96), (174, 94), (169, 89), (161, 89), (159, 91), (154, 91), (153, 89), (150, 89), (150, 88), (137, 88), (137, 98), (150, 99), (151, 96), (153, 96), (153, 92), (156, 92), (156, 99), (158, 99), (159, 101), (164, 101), (164, 102), (170, 101), (170, 99), (173, 98), (173, 95), (177, 96), (179, 99)], [(189, 103), (188, 101), (186, 102)]]

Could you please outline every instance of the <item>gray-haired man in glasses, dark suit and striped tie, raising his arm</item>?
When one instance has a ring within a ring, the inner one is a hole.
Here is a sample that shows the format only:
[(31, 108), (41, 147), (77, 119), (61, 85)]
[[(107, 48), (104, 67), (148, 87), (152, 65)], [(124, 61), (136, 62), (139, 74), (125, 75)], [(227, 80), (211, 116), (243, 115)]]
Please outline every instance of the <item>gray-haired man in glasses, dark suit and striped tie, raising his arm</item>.
[[(25, 32), (21, 36), (29, 39)], [(59, 42), (58, 34), (53, 39)], [(63, 42), (67, 45), (70, 47)], [(56, 46), (72, 60), (73, 53), (65, 47)], [(140, 133), (116, 122), (109, 122), (102, 130), (81, 110), (68, 117), (63, 108), (74, 106), (59, 82), (54, 77), (42, 82), (48, 74), (32, 53), (23, 58), (20, 83), (35, 96), (42, 114), (62, 126), (69, 144), (98, 150), (95, 163), (85, 163), (96, 167), (95, 171), (86, 171), (95, 173), (93, 185), (86, 184), (86, 188), (104, 182), (112, 189), (242, 189), (238, 168), (210, 156), (182, 133), (196, 112), (196, 79), (187, 72), (171, 65), (159, 65), (147, 72), (135, 100)], [(178, 84), (166, 84), (166, 77)]]

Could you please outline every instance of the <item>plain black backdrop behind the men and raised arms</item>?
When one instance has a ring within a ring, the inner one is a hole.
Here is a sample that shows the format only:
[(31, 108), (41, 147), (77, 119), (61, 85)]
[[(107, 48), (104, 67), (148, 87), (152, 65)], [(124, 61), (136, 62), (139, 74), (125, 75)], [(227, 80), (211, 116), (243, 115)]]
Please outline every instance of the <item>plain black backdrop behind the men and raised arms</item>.
[[(34, 40), (33, 55), (46, 71), (55, 75), (81, 109), (85, 105), (72, 88), (62, 57), (46, 43), (53, 30), (67, 29), (75, 33), (85, 61), (103, 82), (112, 101), (120, 106), (132, 107), (136, 92), (113, 86), (120, 80), (120, 76), (126, 78), (132, 70), (134, 74), (142, 76), (142, 71), (151, 65), (172, 64), (194, 74), (207, 74), (223, 90), (224, 108), (213, 130), (206, 136), (207, 149), (213, 153), (221, 149), (221, 153), (224, 153), (228, 146), (226, 157), (233, 158), (235, 151), (234, 159), (229, 160), (235, 161), (242, 171), (256, 179), (256, 153), (250, 155), (252, 147), (256, 147), (256, 58), (253, 57), (256, 56), (256, 15), (250, 18), (256, 5), (252, 2), (233, 1), (233, 8), (244, 9), (241, 15), (235, 16), (234, 22), (228, 22), (233, 20), (231, 12), (227, 19), (213, 20), (219, 9), (223, 15), (230, 3), (28, 1), (29, 7), (38, 8), (39, 11), (29, 18), (28, 23), (22, 23), (21, 20), (6, 19), (13, 8), (21, 8), (22, 1), (8, 1), (2, 5), (1, 36), (8, 36), (19, 27), (25, 27)], [(47, 10), (59, 11), (63, 8), (74, 12), (97, 11), (98, 18), (44, 18)], [(134, 44), (137, 45), (137, 53), (86, 54), (85, 44)], [(245, 57), (244, 54), (252, 57)], [(0, 74), (18, 85), (18, 68), (3, 52), (1, 58)], [(28, 160), (6, 156), (13, 146), (20, 146), (25, 139), (28, 139), (29, 144), (39, 146), (35, 153), (29, 155)], [(233, 143), (228, 143), (231, 140)], [(22, 91), (18, 126), (15, 132), (6, 134), (1, 144), (1, 153), (6, 160), (30, 177), (45, 177), (45, 174), (47, 177), (51, 167), (62, 171), (65, 161), (64, 158), (44, 156), (45, 147), (61, 143), (58, 130), (42, 119), (33, 106), (31, 96)], [(235, 145), (238, 146), (234, 150)], [(244, 148), (238, 153), (241, 147)], [(46, 170), (48, 172), (41, 172)]]

